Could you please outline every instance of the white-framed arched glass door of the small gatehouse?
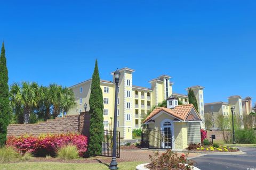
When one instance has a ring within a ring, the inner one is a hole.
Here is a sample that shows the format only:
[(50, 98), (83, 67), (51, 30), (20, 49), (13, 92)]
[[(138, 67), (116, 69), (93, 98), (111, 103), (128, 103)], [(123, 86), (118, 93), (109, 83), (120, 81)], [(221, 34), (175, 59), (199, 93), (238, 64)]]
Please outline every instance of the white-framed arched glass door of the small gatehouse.
[(162, 147), (172, 148), (174, 142), (174, 128), (172, 120), (165, 119), (161, 122), (161, 130), (163, 132)]

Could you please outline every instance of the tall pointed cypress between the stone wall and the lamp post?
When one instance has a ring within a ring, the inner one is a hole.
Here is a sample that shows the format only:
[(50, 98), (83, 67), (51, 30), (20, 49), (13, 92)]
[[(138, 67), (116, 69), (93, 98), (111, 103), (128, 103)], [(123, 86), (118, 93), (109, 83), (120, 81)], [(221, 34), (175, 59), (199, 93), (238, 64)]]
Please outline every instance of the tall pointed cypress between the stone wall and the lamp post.
[(98, 70), (98, 61), (95, 61), (94, 72), (92, 75), (91, 95), (89, 99), (90, 106), (90, 140), (88, 147), (89, 156), (101, 154), (103, 141), (103, 96), (100, 88), (100, 75)]

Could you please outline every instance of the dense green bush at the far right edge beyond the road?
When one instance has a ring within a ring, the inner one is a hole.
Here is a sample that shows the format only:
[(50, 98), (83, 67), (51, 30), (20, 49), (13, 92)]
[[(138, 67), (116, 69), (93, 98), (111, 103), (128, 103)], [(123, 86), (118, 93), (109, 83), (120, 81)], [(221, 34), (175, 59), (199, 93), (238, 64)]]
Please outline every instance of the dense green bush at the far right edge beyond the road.
[(235, 132), (235, 137), (237, 143), (256, 143), (256, 133), (254, 130), (237, 130)]

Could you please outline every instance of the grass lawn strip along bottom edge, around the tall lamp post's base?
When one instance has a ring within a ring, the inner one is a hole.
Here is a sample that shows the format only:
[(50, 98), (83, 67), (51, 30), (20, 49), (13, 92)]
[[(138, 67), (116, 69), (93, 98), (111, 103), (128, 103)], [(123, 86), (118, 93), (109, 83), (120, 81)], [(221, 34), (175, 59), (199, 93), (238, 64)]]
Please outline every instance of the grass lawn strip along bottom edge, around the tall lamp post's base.
[[(119, 169), (134, 170), (141, 162), (123, 162), (119, 163)], [(104, 170), (108, 166), (100, 163), (50, 163), (50, 162), (27, 162), (27, 163), (10, 163), (0, 164), (0, 170)]]

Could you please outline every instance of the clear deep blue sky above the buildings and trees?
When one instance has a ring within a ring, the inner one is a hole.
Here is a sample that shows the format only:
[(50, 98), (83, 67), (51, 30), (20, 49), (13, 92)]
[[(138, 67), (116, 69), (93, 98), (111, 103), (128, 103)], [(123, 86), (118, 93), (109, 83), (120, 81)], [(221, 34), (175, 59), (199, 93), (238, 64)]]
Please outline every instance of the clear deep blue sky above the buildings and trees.
[(9, 83), (63, 86), (134, 69), (149, 87), (161, 74), (173, 91), (205, 87), (205, 103), (231, 95), (256, 101), (255, 1), (3, 1)]

